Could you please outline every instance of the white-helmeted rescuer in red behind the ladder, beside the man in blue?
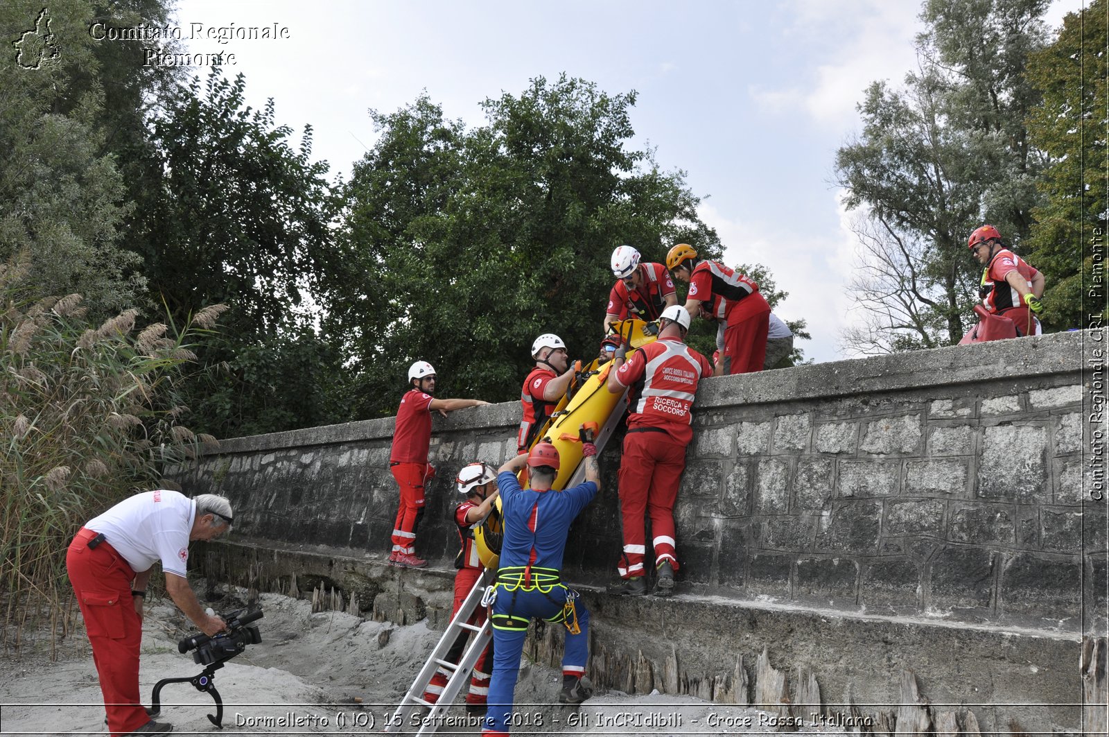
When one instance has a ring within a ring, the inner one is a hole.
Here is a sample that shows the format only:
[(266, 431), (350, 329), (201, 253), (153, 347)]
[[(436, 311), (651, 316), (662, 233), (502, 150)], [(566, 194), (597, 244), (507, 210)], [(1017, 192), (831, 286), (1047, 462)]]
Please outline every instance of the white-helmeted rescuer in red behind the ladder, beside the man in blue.
[[(481, 558), (478, 557), (477, 545), (475, 545), (474, 529), (485, 522), (489, 513), (492, 512), (494, 502), (498, 495), (497, 473), (492, 470), (492, 466), (485, 463), (470, 463), (464, 466), (458, 472), (458, 478), (455, 479), (455, 483), (458, 486), (458, 493), (464, 494), (466, 501), (455, 507), (455, 525), (458, 527), (458, 539), (462, 548), (459, 551), (458, 557), (455, 558), (455, 567), (458, 568), (458, 573), (455, 574), (455, 607), (450, 613), (451, 617), (458, 613), (462, 602), (466, 600), (474, 585), (481, 578), (481, 574), (485, 572)], [(480, 627), (485, 624), (485, 620), (486, 608), (479, 606), (470, 616), (467, 624)], [(467, 633), (464, 632), (455, 640), (450, 650), (447, 652), (446, 659), (457, 665), (466, 652), (467, 640)], [(442, 694), (442, 688), (450, 679), (451, 673), (452, 670), (439, 666), (435, 675), (431, 676), (431, 683), (428, 684), (427, 691), (424, 693), (425, 701), (435, 704), (439, 700), (439, 695)], [(474, 665), (474, 674), (470, 677), (470, 690), (466, 695), (467, 711), (471, 714), (485, 711), (486, 701), (489, 697), (490, 677), (492, 677), (492, 640), (486, 646), (485, 650), (478, 657), (478, 662)]]

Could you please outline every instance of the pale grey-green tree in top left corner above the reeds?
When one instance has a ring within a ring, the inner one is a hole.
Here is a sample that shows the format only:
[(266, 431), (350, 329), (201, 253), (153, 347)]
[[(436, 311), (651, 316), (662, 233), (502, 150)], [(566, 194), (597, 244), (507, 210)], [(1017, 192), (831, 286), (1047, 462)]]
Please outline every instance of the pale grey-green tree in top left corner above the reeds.
[[(120, 248), (130, 211), (106, 151), (90, 3), (0, 6), (0, 260), (26, 252), (34, 293), (80, 292), (93, 314), (133, 304), (139, 259)], [(83, 81), (75, 81), (83, 80)]]

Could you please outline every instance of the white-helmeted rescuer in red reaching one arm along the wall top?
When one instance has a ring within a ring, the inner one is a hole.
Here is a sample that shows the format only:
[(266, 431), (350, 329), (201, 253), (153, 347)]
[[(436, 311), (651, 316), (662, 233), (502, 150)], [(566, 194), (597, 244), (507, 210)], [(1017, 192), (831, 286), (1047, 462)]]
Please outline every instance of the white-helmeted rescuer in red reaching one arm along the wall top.
[(431, 412), (444, 416), (455, 410), (489, 404), (481, 400), (436, 400), (435, 368), (427, 361), (417, 361), (408, 368), (410, 388), (400, 397), (397, 425), (389, 452), (389, 471), (400, 487), (397, 521), (393, 526), (393, 552), (389, 563), (421, 568), (427, 561), (416, 557), (416, 529), (424, 516), (424, 485), (435, 475), (427, 462), (431, 445)]

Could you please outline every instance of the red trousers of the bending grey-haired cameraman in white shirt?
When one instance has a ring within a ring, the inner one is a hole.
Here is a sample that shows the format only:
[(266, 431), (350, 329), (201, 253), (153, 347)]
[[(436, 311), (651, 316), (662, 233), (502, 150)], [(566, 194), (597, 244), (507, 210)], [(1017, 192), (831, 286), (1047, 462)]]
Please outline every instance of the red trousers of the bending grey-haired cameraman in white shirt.
[(78, 532), (65, 554), (65, 569), (92, 645), (108, 729), (125, 735), (150, 721), (139, 701), (142, 619), (131, 598), (135, 574), (108, 543), (90, 551), (88, 542), (95, 535), (84, 527)]

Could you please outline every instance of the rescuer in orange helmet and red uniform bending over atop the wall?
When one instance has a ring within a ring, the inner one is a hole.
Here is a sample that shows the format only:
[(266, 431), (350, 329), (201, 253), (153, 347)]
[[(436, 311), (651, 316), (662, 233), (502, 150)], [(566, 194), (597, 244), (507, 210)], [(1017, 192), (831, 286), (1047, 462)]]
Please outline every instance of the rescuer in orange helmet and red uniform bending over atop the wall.
[(685, 300), (690, 317), (703, 307), (723, 331), (724, 350), (713, 375), (762, 371), (770, 304), (759, 293), (759, 285), (721, 263), (699, 259), (686, 243), (670, 249), (667, 267), (674, 279), (690, 285)]

